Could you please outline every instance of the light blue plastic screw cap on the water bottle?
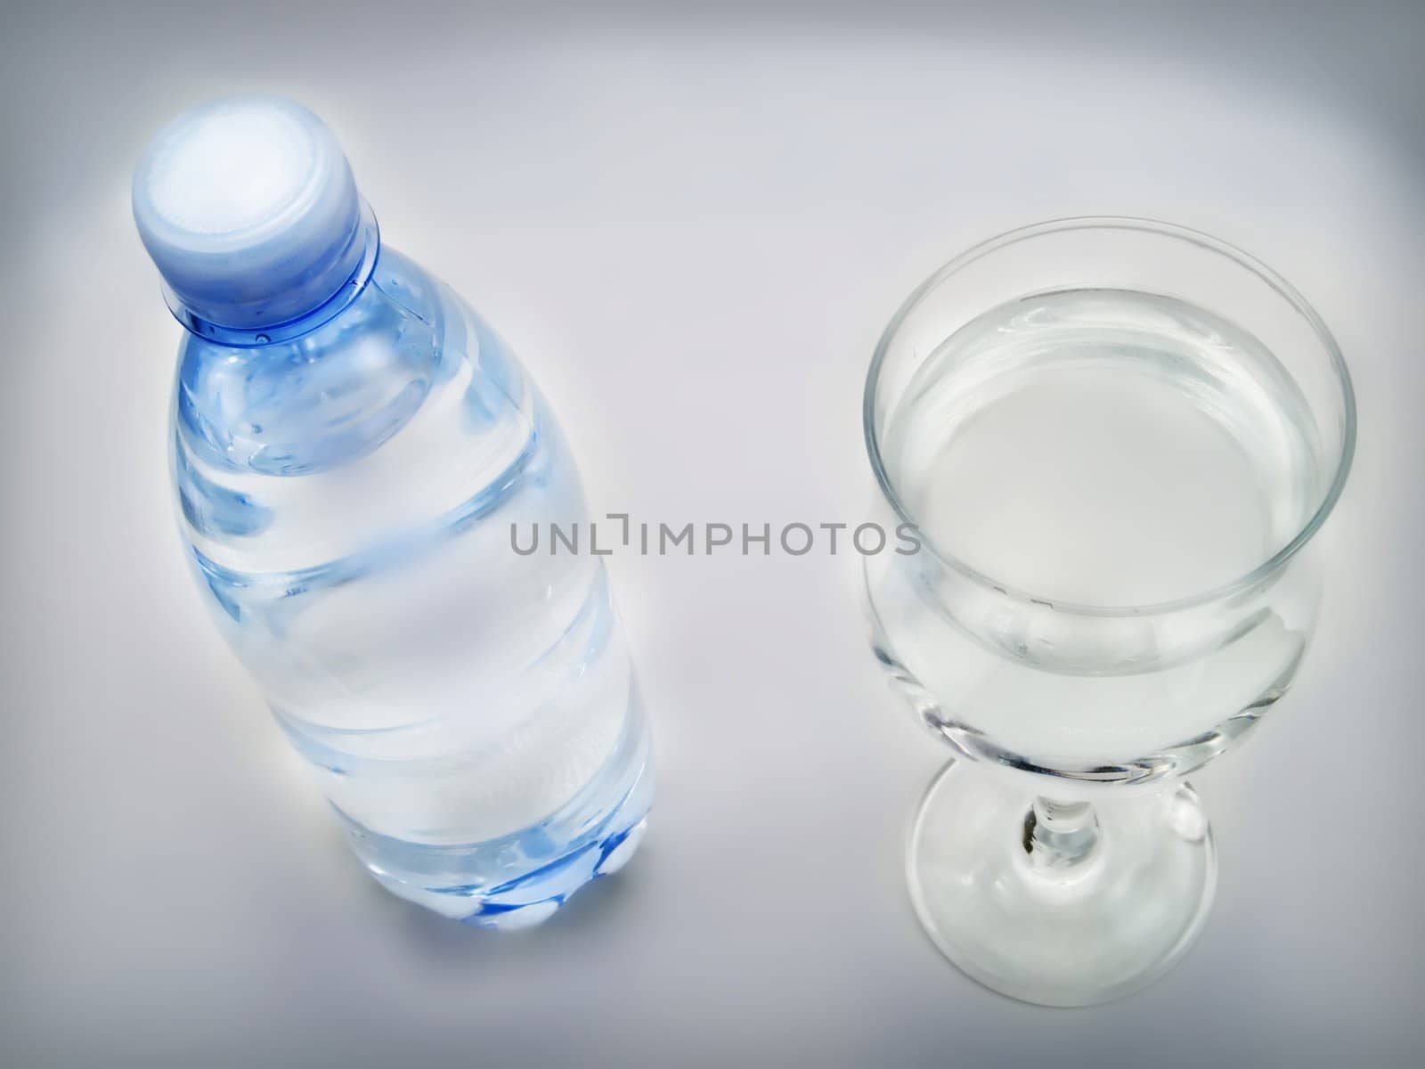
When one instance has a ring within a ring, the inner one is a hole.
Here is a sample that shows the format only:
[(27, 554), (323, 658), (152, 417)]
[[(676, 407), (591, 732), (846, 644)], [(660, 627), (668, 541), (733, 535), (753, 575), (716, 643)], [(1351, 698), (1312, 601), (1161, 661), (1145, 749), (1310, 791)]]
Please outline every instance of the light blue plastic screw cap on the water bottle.
[(242, 331), (322, 305), (366, 245), (341, 145), (281, 97), (225, 97), (164, 127), (134, 174), (134, 221), (180, 318)]

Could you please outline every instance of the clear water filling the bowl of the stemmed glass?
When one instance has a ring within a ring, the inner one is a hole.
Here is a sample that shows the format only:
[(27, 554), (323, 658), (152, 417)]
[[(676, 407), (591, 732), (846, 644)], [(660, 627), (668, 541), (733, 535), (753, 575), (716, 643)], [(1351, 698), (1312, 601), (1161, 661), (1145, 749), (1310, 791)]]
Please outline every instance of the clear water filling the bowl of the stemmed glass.
[(933, 560), (891, 564), (875, 601), (893, 657), (938, 723), (1036, 763), (1193, 745), (1271, 704), (1307, 631), (1278, 606), (1227, 631), (1153, 607), (1291, 542), (1324, 492), (1320, 453), (1291, 375), (1216, 314), (1097, 288), (1002, 304), (932, 349), (886, 420), (908, 512), (986, 577), (928, 599)]

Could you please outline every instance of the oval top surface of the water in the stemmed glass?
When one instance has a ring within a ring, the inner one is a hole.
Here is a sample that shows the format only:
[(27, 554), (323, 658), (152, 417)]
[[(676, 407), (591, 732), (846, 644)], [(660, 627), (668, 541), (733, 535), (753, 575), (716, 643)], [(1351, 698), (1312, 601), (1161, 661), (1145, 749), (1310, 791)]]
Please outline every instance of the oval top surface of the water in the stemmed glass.
[(1311, 412), (1273, 353), (1130, 291), (1039, 294), (956, 331), (916, 371), (885, 456), (936, 546), (1093, 606), (1231, 583), (1321, 492)]

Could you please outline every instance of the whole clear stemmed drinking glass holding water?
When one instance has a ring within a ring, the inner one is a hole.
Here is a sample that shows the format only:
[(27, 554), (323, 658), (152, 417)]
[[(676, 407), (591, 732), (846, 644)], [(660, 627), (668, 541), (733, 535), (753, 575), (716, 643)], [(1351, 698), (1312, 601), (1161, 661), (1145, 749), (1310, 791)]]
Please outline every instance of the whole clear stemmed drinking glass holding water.
[(1203, 928), (1183, 777), (1287, 693), (1312, 536), (1355, 442), (1345, 363), (1280, 275), (1203, 234), (1083, 218), (956, 258), (876, 348), (876, 657), (955, 758), (916, 812), (916, 914), (972, 978), (1126, 995)]

